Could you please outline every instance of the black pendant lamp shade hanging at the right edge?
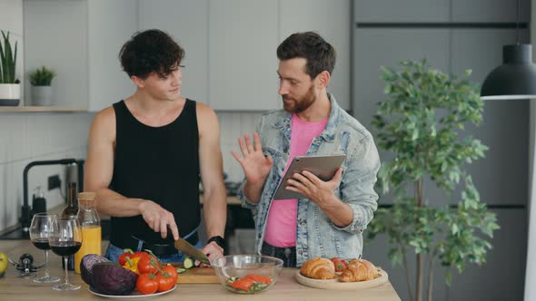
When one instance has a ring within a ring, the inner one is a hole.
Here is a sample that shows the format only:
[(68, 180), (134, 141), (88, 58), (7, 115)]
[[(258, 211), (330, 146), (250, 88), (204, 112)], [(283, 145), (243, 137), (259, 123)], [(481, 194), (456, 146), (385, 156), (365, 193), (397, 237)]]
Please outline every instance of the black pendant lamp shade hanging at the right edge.
[(502, 46), (502, 64), (484, 80), (481, 99), (536, 99), (536, 65), (532, 63), (531, 44)]

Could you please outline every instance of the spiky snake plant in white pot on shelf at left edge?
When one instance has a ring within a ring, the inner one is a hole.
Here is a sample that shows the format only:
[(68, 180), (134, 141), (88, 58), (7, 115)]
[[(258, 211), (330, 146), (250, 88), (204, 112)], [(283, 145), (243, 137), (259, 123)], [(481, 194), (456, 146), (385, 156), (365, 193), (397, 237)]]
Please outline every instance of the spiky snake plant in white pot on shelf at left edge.
[(0, 106), (16, 106), (21, 98), (20, 84), (15, 79), (17, 43), (15, 42), (14, 51), (9, 41), (9, 32), (0, 32)]

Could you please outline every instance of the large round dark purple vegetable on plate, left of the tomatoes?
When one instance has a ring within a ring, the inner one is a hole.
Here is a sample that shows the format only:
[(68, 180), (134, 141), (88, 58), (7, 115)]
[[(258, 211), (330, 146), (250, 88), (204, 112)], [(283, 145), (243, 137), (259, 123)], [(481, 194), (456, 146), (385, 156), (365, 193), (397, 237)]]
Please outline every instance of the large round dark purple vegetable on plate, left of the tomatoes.
[(130, 294), (137, 279), (136, 273), (114, 262), (102, 262), (93, 267), (93, 287), (106, 295)]

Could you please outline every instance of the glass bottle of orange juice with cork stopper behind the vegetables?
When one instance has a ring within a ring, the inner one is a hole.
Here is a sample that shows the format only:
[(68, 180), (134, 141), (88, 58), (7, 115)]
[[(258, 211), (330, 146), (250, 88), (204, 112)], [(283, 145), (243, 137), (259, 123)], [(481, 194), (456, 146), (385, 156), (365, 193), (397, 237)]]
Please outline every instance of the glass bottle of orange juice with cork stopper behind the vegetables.
[(87, 254), (102, 253), (102, 228), (101, 218), (95, 209), (94, 192), (78, 193), (78, 221), (82, 228), (82, 248), (74, 254), (74, 272), (80, 274), (80, 262)]

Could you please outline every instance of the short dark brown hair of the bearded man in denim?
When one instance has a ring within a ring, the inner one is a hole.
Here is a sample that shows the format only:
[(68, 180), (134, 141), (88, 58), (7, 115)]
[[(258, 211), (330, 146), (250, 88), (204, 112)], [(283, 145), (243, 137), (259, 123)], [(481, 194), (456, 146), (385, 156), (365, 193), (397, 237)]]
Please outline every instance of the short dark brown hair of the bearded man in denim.
[(277, 47), (277, 58), (282, 61), (296, 57), (306, 59), (305, 73), (311, 78), (323, 71), (332, 74), (336, 56), (332, 44), (314, 32), (291, 34)]

